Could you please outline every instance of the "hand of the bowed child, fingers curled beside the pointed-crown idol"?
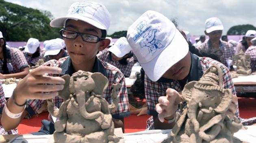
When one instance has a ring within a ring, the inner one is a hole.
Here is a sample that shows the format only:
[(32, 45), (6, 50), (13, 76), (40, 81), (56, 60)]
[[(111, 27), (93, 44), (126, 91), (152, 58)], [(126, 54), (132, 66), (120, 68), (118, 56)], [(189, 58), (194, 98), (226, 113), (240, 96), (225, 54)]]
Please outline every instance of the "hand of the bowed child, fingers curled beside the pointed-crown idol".
[[(174, 89), (168, 88), (166, 90), (166, 96), (158, 98), (158, 104), (156, 104), (156, 111), (158, 112), (158, 119), (161, 122), (164, 120), (171, 120), (174, 118), (174, 114), (178, 109), (178, 105), (182, 102), (182, 96)], [(165, 118), (165, 119), (164, 119)]]

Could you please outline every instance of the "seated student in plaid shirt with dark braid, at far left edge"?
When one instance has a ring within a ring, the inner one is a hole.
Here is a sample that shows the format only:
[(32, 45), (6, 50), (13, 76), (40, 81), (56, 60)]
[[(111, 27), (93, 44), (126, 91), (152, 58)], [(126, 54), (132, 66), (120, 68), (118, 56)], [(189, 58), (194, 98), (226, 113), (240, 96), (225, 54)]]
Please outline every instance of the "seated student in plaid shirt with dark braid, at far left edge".
[(0, 32), (0, 78), (24, 78), (28, 73), (28, 63), (22, 51), (6, 47)]

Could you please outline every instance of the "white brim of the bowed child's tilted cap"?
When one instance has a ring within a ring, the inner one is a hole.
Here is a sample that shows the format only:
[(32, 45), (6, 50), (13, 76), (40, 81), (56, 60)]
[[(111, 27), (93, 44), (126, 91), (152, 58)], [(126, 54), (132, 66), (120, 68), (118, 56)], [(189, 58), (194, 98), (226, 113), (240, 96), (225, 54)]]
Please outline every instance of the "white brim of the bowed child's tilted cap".
[(187, 43), (187, 40), (176, 29), (171, 44), (150, 62), (140, 64), (150, 80), (156, 82), (171, 66), (183, 59), (188, 51), (189, 44)]

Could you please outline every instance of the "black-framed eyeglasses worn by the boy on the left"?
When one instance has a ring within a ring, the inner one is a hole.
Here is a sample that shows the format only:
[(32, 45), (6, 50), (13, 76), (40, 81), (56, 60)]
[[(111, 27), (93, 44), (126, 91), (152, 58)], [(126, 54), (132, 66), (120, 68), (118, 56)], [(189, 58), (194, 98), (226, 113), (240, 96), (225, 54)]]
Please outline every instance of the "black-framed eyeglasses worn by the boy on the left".
[(76, 39), (77, 36), (81, 35), (82, 40), (89, 43), (98, 43), (99, 41), (104, 40), (105, 38), (99, 38), (98, 36), (91, 34), (78, 33), (72, 30), (61, 29), (60, 30), (61, 37), (67, 39)]

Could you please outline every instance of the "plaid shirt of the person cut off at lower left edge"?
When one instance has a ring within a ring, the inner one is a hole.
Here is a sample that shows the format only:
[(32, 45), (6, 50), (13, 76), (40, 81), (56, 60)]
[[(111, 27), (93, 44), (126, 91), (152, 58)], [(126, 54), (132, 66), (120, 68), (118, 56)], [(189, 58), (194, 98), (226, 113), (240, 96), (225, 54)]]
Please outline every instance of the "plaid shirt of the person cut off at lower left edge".
[[(6, 104), (6, 100), (4, 97), (4, 91), (2, 87), (2, 83), (0, 82), (0, 114), (2, 114), (4, 105)], [(18, 128), (15, 128), (13, 130), (4, 130), (3, 126), (0, 125), (0, 135), (17, 135), (18, 134)]]

